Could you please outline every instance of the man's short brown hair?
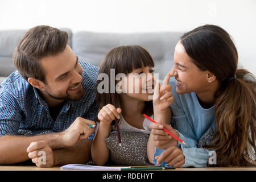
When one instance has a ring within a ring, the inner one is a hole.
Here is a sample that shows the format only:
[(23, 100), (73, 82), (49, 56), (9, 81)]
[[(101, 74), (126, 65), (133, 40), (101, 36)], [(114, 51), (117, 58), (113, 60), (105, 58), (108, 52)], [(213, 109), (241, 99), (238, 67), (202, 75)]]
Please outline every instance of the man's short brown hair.
[(32, 77), (45, 82), (40, 59), (63, 52), (67, 43), (65, 31), (50, 26), (30, 28), (14, 50), (14, 65), (25, 80)]

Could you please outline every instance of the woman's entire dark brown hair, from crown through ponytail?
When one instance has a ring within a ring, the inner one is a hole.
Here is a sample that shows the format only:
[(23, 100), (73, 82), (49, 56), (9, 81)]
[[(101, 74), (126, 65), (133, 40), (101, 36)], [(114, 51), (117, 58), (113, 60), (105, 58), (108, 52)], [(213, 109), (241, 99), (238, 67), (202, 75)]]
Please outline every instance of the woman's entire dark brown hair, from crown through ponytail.
[(221, 85), (215, 93), (216, 133), (204, 147), (216, 151), (217, 166), (255, 166), (256, 81), (246, 69), (237, 69), (238, 53), (230, 35), (205, 25), (181, 36), (181, 44), (192, 62)]

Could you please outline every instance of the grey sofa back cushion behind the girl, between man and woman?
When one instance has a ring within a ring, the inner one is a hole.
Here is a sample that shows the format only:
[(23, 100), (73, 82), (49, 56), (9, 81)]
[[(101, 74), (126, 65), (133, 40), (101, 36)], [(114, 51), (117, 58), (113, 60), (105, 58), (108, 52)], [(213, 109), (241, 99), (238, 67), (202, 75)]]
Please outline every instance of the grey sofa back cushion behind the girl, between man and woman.
[(155, 61), (155, 73), (159, 73), (159, 79), (163, 79), (174, 64), (174, 49), (182, 34), (183, 32), (117, 34), (79, 31), (73, 33), (72, 48), (80, 60), (100, 66), (106, 53), (114, 47), (142, 46), (150, 52)]

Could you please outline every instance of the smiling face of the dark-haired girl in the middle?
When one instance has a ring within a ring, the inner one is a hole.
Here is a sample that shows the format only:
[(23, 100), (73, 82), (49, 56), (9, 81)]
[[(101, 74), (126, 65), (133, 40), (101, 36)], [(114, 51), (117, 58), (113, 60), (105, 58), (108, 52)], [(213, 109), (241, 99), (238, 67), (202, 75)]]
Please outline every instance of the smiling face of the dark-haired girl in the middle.
[(141, 101), (151, 101), (154, 94), (154, 68), (134, 69), (122, 82), (122, 92), (128, 97)]

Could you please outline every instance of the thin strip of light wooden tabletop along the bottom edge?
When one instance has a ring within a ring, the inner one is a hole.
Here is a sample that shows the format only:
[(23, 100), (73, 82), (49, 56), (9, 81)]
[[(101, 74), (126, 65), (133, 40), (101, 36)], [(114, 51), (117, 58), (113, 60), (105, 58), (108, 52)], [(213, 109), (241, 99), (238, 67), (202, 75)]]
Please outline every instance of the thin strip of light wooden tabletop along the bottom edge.
[[(60, 171), (60, 167), (39, 168), (36, 166), (0, 166), (0, 171)], [(205, 167), (205, 168), (176, 168), (164, 171), (256, 171), (256, 167)], [(66, 170), (65, 170), (66, 171)]]

